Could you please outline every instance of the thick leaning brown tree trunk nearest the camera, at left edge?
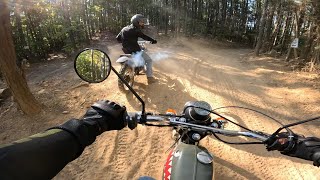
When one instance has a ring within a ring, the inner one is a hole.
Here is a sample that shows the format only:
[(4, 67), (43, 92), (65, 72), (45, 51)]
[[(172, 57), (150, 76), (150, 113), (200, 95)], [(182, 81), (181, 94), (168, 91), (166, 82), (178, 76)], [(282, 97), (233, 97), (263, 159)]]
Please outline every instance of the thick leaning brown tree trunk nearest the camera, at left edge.
[(16, 54), (11, 36), (9, 10), (6, 2), (6, 0), (0, 1), (1, 72), (21, 110), (27, 115), (35, 115), (41, 111), (41, 106), (31, 94), (26, 79), (16, 66)]

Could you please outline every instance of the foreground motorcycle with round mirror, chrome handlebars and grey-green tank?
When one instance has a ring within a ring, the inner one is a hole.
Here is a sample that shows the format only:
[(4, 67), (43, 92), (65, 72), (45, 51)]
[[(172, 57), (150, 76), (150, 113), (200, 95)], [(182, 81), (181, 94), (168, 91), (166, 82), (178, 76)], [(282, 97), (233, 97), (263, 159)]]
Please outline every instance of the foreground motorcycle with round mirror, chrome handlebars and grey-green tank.
[[(272, 134), (254, 131), (234, 122), (230, 118), (212, 110), (209, 103), (204, 101), (187, 102), (181, 113), (169, 109), (164, 114), (147, 113), (145, 103), (141, 97), (132, 89), (130, 84), (119, 74), (112, 66), (106, 53), (97, 49), (86, 49), (79, 53), (75, 60), (75, 69), (79, 77), (90, 83), (98, 83), (105, 80), (111, 70), (128, 87), (128, 89), (141, 102), (140, 112), (128, 112), (126, 120), (130, 129), (135, 129), (138, 124), (156, 127), (173, 128), (175, 143), (166, 159), (163, 168), (163, 179), (214, 179), (214, 156), (205, 148), (199, 145), (199, 142), (206, 136), (213, 135), (218, 140), (233, 145), (243, 144), (270, 144), (280, 139), (278, 136), (282, 130), (287, 131), (286, 142), (278, 142), (272, 150), (283, 150), (293, 148), (296, 139), (294, 133), (289, 127), (298, 124), (314, 121), (320, 117), (283, 125), (275, 120), (281, 127)], [(242, 107), (238, 107), (242, 108)], [(248, 108), (243, 108), (248, 109)], [(252, 110), (252, 109), (248, 109)], [(252, 110), (258, 112), (256, 110)], [(265, 115), (261, 112), (258, 112)], [(265, 115), (267, 116), (267, 115)], [(269, 117), (269, 116), (268, 116)], [(226, 123), (232, 123), (244, 130), (228, 130)], [(219, 135), (219, 136), (218, 136)], [(254, 139), (253, 142), (228, 142), (221, 139), (220, 135), (228, 137), (246, 137)], [(315, 157), (312, 157), (315, 158)], [(153, 179), (144, 177), (143, 179)]]

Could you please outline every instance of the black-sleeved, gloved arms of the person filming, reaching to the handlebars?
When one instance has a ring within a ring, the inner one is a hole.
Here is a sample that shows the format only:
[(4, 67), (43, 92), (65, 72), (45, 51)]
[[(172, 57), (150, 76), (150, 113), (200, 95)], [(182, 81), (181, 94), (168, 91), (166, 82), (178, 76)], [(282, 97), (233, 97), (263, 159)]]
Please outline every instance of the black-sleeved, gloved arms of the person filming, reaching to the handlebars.
[[(121, 130), (127, 125), (126, 108), (111, 101), (94, 103), (80, 119), (0, 146), (0, 179), (51, 179), (69, 162), (78, 158), (86, 146), (105, 131)], [(282, 154), (314, 160), (320, 166), (320, 139), (295, 136), (295, 144), (286, 149), (287, 134), (267, 146)]]

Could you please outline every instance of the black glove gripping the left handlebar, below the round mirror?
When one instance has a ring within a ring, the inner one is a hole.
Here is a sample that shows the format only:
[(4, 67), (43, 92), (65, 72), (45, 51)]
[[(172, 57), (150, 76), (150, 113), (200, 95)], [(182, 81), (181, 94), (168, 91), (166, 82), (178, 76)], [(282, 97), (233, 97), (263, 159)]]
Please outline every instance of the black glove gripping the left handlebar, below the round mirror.
[(94, 103), (86, 114), (80, 119), (71, 119), (64, 124), (50, 129), (62, 129), (72, 134), (83, 149), (92, 144), (96, 136), (109, 130), (121, 130), (127, 125), (127, 111), (111, 101), (98, 101)]

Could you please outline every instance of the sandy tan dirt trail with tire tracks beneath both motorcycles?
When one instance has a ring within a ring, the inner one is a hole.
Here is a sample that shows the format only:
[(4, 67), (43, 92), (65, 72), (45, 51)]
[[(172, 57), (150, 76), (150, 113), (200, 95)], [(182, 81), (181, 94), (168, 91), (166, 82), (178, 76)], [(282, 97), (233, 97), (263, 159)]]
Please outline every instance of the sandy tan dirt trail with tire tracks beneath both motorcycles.
[[(102, 42), (99, 46), (105, 44)], [(222, 48), (190, 40), (168, 44), (149, 46), (149, 54), (161, 52), (166, 57), (155, 62), (157, 82), (147, 85), (146, 77), (140, 76), (135, 84), (135, 89), (146, 101), (147, 111), (164, 112), (168, 108), (180, 111), (187, 101), (205, 100), (214, 108), (238, 105), (260, 110), (282, 123), (319, 115), (320, 86), (315, 82), (319, 78), (316, 75), (291, 72), (280, 60), (247, 57), (248, 49)], [(108, 50), (115, 68), (119, 69), (115, 59), (120, 53), (120, 46), (110, 45), (105, 50)], [(49, 117), (42, 116), (46, 123), (21, 116), (18, 119), (23, 121), (14, 125), (9, 121), (14, 118), (12, 113), (16, 110), (13, 109), (6, 115), (9, 120), (1, 125), (4, 131), (0, 137), (4, 142), (32, 134), (67, 118), (79, 117), (98, 99), (120, 102), (130, 111), (140, 110), (132, 95), (120, 93), (114, 74), (103, 83), (76, 87), (81, 80), (73, 72), (71, 61), (57, 61), (47, 67), (50, 69), (57, 64), (59, 66), (59, 63), (61, 66), (65, 64), (64, 69), (52, 68), (57, 73), (51, 73), (50, 77), (35, 80), (35, 73), (29, 76), (29, 84), (37, 98), (50, 109)], [(68, 110), (69, 114), (61, 114), (64, 110)], [(255, 130), (271, 133), (279, 126), (267, 118), (243, 110), (222, 112)], [(33, 123), (30, 125), (30, 122)], [(319, 125), (310, 123), (296, 127), (294, 131), (319, 136)], [(26, 132), (7, 135), (9, 128), (17, 130), (19, 126), (24, 126)], [(231, 125), (228, 127), (234, 128)], [(172, 143), (169, 128), (138, 126), (133, 131), (124, 129), (104, 133), (55, 179), (137, 179), (146, 175), (161, 179), (166, 151)], [(320, 177), (319, 169), (311, 162), (267, 152), (262, 145), (226, 145), (212, 138), (204, 139), (202, 145), (215, 155), (217, 179), (291, 180)]]

